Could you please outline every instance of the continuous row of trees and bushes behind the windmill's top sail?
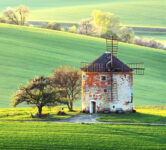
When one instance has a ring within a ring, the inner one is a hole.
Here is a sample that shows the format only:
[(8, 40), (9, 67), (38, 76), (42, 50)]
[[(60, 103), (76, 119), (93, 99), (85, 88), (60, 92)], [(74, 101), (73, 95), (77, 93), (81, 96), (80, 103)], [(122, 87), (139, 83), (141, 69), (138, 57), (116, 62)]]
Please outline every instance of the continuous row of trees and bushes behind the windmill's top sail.
[(92, 17), (82, 19), (78, 26), (73, 25), (69, 28), (62, 28), (61, 24), (53, 22), (41, 27), (101, 38), (111, 38), (113, 36), (121, 42), (166, 50), (166, 45), (162, 42), (135, 36), (132, 28), (124, 26), (120, 18), (110, 12), (95, 10), (92, 12)]

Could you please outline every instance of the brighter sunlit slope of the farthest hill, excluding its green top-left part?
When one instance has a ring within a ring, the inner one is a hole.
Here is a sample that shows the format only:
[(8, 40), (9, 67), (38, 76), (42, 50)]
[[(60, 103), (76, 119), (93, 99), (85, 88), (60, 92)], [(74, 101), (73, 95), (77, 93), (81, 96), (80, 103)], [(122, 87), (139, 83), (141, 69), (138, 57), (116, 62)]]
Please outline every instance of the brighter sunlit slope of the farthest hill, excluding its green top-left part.
[(120, 16), (122, 23), (136, 26), (166, 26), (166, 2), (162, 0), (147, 1), (103, 1), (102, 4), (79, 5), (72, 7), (41, 9), (32, 11), (30, 20), (51, 20), (61, 22), (78, 22), (82, 18), (90, 17), (95, 9), (113, 12)]

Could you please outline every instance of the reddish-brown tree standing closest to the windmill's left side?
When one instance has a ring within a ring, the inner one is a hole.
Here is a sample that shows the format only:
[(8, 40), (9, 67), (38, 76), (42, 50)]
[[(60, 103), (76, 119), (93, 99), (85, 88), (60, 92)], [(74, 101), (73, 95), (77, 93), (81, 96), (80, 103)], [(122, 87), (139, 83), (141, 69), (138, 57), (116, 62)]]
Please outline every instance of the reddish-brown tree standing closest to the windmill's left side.
[(70, 111), (73, 110), (73, 102), (80, 96), (81, 75), (76, 69), (68, 66), (59, 67), (54, 71), (53, 85), (63, 88), (66, 104)]

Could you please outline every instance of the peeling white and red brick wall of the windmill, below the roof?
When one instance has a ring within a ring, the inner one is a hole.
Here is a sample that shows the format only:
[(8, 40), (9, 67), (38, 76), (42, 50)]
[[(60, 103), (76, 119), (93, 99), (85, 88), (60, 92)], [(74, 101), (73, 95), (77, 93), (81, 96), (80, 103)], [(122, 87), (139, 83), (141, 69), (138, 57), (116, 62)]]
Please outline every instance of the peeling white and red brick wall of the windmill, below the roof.
[[(106, 80), (101, 81), (105, 75)], [(132, 73), (113, 73), (112, 80), (109, 72), (82, 72), (82, 110), (90, 111), (91, 101), (96, 102), (96, 110), (103, 111), (110, 108), (112, 112), (117, 108), (124, 111), (132, 110), (133, 76)], [(112, 81), (112, 82), (111, 82)], [(113, 99), (111, 99), (111, 86)]]

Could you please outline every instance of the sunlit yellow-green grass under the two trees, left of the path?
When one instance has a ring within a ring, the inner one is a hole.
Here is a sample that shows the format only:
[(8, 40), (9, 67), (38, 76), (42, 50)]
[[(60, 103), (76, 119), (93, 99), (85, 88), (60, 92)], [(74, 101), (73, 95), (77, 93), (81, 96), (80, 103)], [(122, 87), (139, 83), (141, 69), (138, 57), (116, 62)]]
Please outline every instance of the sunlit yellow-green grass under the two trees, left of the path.
[(59, 111), (62, 111), (62, 107), (44, 107), (43, 108), (43, 114), (48, 114), (48, 117), (44, 118), (32, 118), (31, 114), (35, 116), (35, 114), (38, 112), (37, 108), (8, 108), (8, 109), (0, 109), (0, 121), (4, 120), (33, 120), (33, 121), (55, 121), (55, 120), (61, 120), (61, 119), (67, 119), (74, 115), (77, 115), (80, 113), (80, 109), (74, 109), (73, 112), (69, 112), (67, 108), (64, 108), (64, 112), (66, 115), (57, 115)]

